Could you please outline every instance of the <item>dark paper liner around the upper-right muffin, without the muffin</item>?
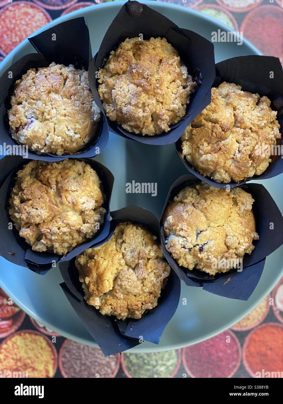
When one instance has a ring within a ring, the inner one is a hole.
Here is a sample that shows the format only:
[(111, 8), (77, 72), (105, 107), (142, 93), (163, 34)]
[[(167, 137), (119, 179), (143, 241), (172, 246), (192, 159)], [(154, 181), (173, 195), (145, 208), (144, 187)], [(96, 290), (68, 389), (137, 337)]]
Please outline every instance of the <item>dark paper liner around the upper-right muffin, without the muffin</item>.
[[(281, 142), (283, 144), (283, 71), (280, 60), (272, 56), (238, 56), (231, 59), (226, 59), (216, 65), (216, 78), (212, 87), (218, 87), (219, 84), (226, 81), (242, 86), (243, 91), (258, 93), (260, 97), (266, 95), (271, 101), (270, 107), (277, 111), (277, 120), (281, 126)], [(273, 72), (273, 78), (270, 78)], [(280, 139), (279, 139), (280, 140)], [(175, 143), (176, 151), (187, 170), (195, 177), (201, 179), (213, 187), (231, 188), (238, 185), (243, 185), (247, 181), (262, 180), (276, 177), (283, 173), (283, 159), (281, 156), (272, 161), (261, 175), (254, 175), (247, 178), (245, 181), (231, 181), (229, 183), (217, 183), (209, 177), (205, 177), (197, 172), (191, 163), (186, 158), (182, 157), (181, 139)]]

